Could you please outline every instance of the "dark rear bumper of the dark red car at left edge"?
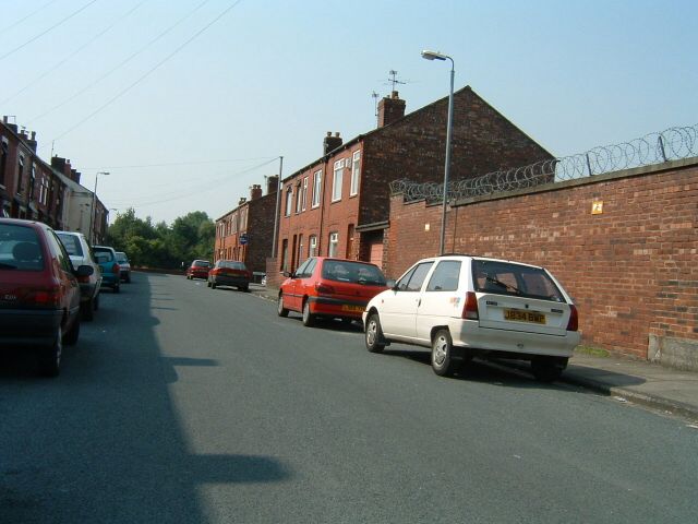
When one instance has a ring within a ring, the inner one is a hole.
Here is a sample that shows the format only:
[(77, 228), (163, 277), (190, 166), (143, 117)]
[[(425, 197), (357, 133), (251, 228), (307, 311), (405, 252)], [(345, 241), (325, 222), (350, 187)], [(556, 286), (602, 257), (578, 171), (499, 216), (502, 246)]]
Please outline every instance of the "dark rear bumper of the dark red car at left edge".
[(0, 346), (51, 344), (62, 319), (61, 310), (0, 310)]

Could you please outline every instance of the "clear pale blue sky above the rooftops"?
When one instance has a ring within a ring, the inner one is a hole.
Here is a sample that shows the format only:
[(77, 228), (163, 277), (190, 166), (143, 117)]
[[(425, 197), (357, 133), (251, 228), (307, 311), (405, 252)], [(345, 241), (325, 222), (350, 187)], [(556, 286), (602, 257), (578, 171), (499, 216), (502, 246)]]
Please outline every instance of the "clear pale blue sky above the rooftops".
[(0, 0), (0, 114), (87, 188), (109, 171), (108, 207), (155, 222), (216, 218), (279, 155), (286, 177), (326, 131), (373, 129), (390, 70), (408, 112), (447, 95), (448, 66), (425, 48), (556, 156), (698, 123), (695, 0)]

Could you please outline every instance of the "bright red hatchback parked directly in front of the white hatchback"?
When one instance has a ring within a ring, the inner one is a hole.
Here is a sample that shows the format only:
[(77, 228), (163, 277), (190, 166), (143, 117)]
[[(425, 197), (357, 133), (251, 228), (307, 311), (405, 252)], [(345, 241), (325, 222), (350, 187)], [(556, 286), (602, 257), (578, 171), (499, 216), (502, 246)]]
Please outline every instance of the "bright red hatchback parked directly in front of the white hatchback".
[(303, 315), (303, 325), (318, 317), (361, 320), (366, 303), (387, 289), (377, 265), (354, 260), (313, 257), (303, 262), (281, 284), (278, 314), (289, 311)]

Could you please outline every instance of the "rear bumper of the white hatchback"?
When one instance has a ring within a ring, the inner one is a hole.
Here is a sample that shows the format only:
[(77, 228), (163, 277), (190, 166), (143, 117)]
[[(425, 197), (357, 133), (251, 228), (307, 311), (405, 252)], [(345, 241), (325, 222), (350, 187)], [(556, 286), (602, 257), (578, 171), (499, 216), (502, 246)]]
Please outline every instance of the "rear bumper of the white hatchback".
[(454, 346), (521, 356), (544, 355), (568, 358), (581, 340), (578, 331), (566, 331), (564, 335), (546, 335), (480, 327), (477, 321), (468, 320), (455, 320), (449, 323), (448, 329)]

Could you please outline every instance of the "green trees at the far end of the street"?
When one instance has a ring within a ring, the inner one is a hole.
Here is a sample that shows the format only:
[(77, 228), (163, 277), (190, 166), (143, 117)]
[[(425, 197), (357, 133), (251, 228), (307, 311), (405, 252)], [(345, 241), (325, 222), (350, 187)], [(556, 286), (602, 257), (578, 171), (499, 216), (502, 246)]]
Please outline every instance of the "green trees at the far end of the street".
[(143, 221), (129, 207), (107, 231), (108, 245), (124, 251), (131, 264), (161, 269), (179, 269), (194, 259), (210, 260), (215, 237), (216, 226), (202, 211), (180, 216), (169, 227), (164, 222), (153, 225), (149, 216)]

